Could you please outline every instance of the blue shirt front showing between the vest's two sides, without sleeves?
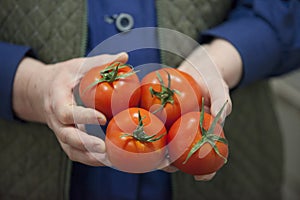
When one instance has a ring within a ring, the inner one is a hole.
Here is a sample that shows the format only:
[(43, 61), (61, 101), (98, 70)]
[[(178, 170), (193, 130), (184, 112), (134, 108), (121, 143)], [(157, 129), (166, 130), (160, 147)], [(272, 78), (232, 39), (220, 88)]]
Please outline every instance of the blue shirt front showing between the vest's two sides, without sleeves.
[[(112, 47), (115, 45), (111, 44), (105, 48), (100, 44), (102, 41), (119, 33), (115, 23), (108, 23), (107, 20), (105, 20), (107, 17), (120, 13), (128, 13), (134, 19), (133, 28), (155, 27), (156, 17), (153, 2), (154, 1), (127, 0), (126, 4), (136, 6), (124, 6), (119, 0), (110, 0), (109, 2), (89, 0), (88, 56), (109, 52), (114, 53), (114, 48), (118, 48), (118, 44), (116, 44), (117, 47)], [(126, 33), (126, 38), (130, 38), (130, 34), (132, 33)], [(147, 42), (156, 43), (155, 35), (147, 37)], [(97, 46), (98, 44), (100, 45)], [(130, 47), (127, 46), (127, 48), (134, 49), (134, 45), (135, 44), (128, 43)], [(154, 44), (153, 46), (156, 45)], [(133, 66), (159, 63), (160, 61), (159, 52), (156, 49), (140, 49), (128, 53), (128, 63)], [(155, 68), (151, 66), (151, 70), (155, 70)], [(145, 174), (129, 174), (109, 167), (91, 167), (81, 163), (73, 163), (70, 197), (71, 200), (152, 200), (154, 197), (157, 200), (167, 200), (171, 199), (170, 175), (163, 171)]]

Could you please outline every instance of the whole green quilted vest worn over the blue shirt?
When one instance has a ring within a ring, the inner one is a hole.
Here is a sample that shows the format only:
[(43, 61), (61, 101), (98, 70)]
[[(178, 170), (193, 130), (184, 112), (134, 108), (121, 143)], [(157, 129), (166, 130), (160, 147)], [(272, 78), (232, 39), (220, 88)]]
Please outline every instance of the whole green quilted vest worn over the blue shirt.
[[(230, 5), (229, 0), (157, 0), (158, 24), (197, 39), (224, 20)], [(86, 16), (84, 0), (2, 0), (0, 40), (31, 46), (46, 63), (83, 56)], [(168, 45), (159, 37), (162, 47)], [(170, 66), (181, 61), (168, 52), (161, 56)], [(173, 199), (281, 198), (282, 142), (268, 83), (237, 89), (232, 100), (224, 127), (228, 163), (210, 182), (172, 174)], [(71, 162), (45, 125), (0, 120), (0, 160), (0, 199), (68, 199)]]

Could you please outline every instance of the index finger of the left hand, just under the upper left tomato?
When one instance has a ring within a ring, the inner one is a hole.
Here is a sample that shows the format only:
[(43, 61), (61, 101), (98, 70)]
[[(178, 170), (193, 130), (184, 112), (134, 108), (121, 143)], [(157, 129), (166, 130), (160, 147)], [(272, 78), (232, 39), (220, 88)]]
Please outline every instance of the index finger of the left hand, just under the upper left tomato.
[(54, 113), (62, 124), (106, 124), (101, 112), (74, 104), (61, 105)]

